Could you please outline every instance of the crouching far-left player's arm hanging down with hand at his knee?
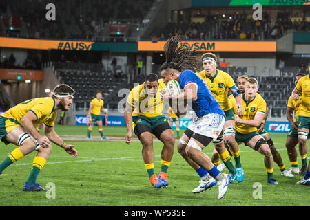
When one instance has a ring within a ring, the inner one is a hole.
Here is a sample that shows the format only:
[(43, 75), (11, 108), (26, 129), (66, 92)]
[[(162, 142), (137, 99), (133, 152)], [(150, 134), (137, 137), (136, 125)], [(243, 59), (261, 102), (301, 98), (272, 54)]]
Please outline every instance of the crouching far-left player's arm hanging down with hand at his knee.
[(33, 111), (28, 111), (23, 118), (21, 118), (21, 125), (27, 133), (29, 133), (42, 147), (50, 147), (50, 140), (48, 137), (39, 134), (37, 129), (34, 128), (33, 122), (37, 120), (37, 115)]

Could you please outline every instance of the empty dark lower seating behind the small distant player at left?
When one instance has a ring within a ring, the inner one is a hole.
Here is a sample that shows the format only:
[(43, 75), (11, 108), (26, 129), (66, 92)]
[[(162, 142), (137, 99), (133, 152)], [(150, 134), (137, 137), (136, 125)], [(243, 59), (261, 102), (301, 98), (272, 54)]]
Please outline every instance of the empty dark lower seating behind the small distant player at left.
[(96, 91), (103, 92), (104, 107), (117, 109), (118, 97), (122, 88), (130, 88), (126, 74), (120, 73), (121, 78), (115, 78), (112, 71), (100, 64), (90, 63), (59, 63), (53, 64), (56, 76), (61, 83), (68, 84), (76, 90), (76, 108), (83, 109), (89, 106)]

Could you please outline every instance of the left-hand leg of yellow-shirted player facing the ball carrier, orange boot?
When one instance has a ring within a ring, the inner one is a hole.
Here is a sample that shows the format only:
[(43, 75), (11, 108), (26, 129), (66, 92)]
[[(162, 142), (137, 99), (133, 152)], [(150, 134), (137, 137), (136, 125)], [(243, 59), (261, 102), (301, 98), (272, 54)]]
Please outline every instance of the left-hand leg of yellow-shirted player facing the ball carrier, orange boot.
[(161, 188), (164, 185), (163, 181), (159, 180), (154, 171), (154, 149), (153, 149), (153, 137), (151, 133), (152, 129), (147, 124), (136, 124), (134, 127), (134, 133), (142, 144), (142, 157), (144, 161), (147, 174), (149, 175), (149, 181), (155, 188)]

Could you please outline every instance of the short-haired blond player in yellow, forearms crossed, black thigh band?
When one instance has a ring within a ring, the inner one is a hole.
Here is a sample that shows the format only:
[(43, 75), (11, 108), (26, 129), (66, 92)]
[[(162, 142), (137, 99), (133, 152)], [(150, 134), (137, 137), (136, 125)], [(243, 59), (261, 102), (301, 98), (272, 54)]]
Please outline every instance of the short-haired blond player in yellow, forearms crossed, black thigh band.
[[(244, 142), (264, 155), (264, 163), (267, 170), (269, 184), (278, 184), (273, 179), (273, 156), (265, 139), (258, 134), (257, 127), (265, 116), (266, 102), (261, 96), (257, 96), (258, 82), (256, 78), (249, 78), (245, 85), (245, 94), (242, 95), (242, 106), (245, 111), (242, 115), (235, 115), (236, 118), (236, 141)], [(231, 104), (234, 112), (237, 113), (236, 100), (232, 99)]]

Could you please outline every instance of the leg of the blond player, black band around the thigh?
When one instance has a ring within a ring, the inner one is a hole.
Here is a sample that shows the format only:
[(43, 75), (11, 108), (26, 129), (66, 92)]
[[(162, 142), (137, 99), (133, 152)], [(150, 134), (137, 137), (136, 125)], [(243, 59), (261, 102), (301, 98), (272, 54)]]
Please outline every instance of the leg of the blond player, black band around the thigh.
[(265, 141), (265, 139), (260, 136), (256, 135), (247, 142), (247, 146), (251, 147), (255, 151), (258, 151), (260, 154), (264, 155), (264, 164), (267, 171), (267, 182), (269, 184), (278, 184), (276, 179), (273, 178), (273, 157), (271, 150)]

